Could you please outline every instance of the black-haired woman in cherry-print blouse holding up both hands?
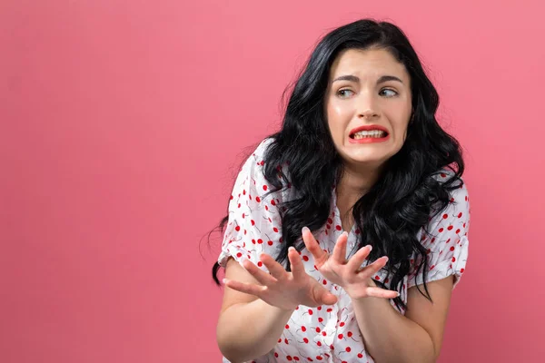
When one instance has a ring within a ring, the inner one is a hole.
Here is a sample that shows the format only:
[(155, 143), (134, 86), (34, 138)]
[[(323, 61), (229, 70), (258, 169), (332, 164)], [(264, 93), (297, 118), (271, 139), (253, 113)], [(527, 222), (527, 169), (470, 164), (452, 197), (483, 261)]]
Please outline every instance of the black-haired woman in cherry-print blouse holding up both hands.
[(395, 25), (323, 37), (221, 224), (224, 362), (435, 361), (470, 221), (438, 103)]

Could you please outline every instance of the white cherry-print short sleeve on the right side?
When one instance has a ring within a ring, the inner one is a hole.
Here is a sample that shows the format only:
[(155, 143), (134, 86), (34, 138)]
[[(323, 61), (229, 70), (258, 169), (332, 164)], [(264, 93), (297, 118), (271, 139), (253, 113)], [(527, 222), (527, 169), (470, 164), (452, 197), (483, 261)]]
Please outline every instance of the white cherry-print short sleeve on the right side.
[[(442, 174), (444, 177), (444, 174)], [(427, 230), (421, 230), (418, 238), (428, 250), (428, 274), (426, 282), (445, 279), (454, 275), (454, 286), (458, 285), (468, 260), (468, 231), (470, 228), (470, 201), (465, 183), (451, 191), (447, 208), (431, 219)], [(423, 283), (423, 264), (417, 273), (418, 263), (411, 260), (408, 288)]]

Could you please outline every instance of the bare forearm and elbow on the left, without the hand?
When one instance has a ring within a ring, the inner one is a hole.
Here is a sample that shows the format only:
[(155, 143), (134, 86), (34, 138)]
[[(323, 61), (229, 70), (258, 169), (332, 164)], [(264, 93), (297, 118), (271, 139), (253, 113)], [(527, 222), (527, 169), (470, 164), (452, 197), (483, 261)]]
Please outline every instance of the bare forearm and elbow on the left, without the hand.
[[(259, 284), (233, 259), (227, 262), (225, 278)], [(216, 329), (218, 347), (233, 363), (263, 356), (278, 342), (292, 312), (292, 309), (276, 308), (253, 295), (225, 287)]]

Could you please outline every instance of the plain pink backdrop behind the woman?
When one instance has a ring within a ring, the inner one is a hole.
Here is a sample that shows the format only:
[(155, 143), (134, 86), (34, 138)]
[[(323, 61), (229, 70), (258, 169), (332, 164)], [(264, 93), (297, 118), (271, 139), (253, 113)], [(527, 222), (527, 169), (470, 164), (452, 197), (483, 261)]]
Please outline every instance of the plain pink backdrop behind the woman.
[(542, 5), (268, 3), (0, 2), (0, 361), (219, 362), (199, 240), (318, 37), (364, 16), (409, 35), (466, 151), (440, 361), (542, 361)]

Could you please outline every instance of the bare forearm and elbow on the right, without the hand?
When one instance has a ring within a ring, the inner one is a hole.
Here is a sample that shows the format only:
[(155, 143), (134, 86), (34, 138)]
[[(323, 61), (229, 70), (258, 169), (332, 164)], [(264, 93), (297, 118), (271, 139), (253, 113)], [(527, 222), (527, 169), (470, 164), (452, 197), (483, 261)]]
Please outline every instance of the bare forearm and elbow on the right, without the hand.
[(386, 299), (352, 299), (365, 348), (377, 363), (435, 362), (439, 357), (452, 277), (427, 286), (433, 303), (412, 287), (408, 290), (405, 316)]

